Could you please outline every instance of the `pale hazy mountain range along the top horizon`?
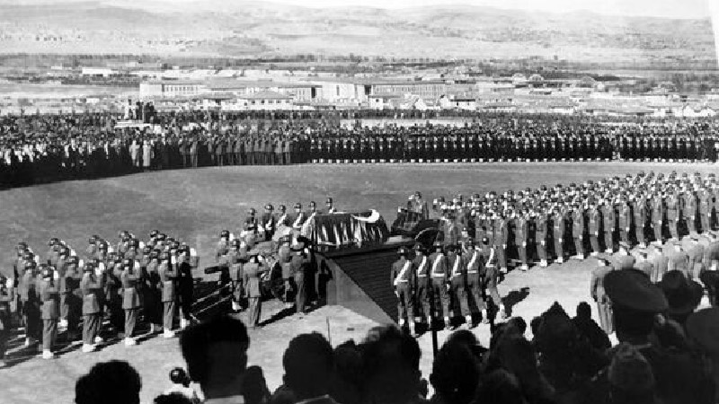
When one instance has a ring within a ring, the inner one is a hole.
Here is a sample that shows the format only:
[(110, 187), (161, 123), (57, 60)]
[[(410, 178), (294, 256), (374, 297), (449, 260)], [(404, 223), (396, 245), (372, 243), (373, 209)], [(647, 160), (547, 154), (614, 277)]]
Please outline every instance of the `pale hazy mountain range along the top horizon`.
[(548, 57), (637, 65), (715, 61), (709, 19), (469, 5), (313, 9), (245, 0), (2, 3), (0, 53), (257, 57)]

